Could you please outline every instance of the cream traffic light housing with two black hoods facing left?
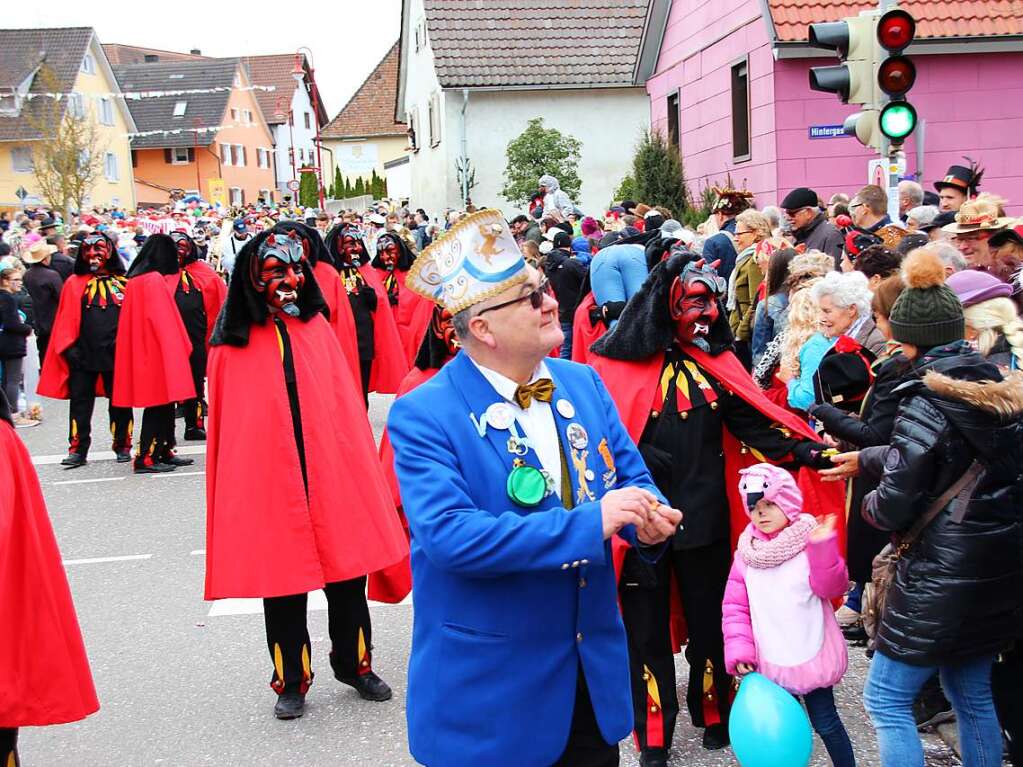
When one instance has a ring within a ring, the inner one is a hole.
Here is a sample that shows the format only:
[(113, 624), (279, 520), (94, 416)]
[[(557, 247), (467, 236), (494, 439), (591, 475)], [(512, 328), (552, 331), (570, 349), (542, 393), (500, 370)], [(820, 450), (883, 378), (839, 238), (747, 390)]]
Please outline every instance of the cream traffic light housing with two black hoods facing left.
[(844, 104), (874, 100), (875, 18), (876, 12), (869, 12), (810, 25), (809, 44), (835, 51), (842, 61), (833, 66), (811, 66), (811, 89), (835, 93)]

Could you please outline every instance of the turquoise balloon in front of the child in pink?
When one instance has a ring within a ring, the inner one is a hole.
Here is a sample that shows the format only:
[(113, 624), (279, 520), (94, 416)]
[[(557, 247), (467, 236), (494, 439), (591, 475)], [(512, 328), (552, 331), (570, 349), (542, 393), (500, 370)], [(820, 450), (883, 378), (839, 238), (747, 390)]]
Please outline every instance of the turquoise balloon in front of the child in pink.
[(747, 674), (728, 717), (731, 750), (742, 767), (806, 767), (813, 732), (795, 697), (760, 674)]

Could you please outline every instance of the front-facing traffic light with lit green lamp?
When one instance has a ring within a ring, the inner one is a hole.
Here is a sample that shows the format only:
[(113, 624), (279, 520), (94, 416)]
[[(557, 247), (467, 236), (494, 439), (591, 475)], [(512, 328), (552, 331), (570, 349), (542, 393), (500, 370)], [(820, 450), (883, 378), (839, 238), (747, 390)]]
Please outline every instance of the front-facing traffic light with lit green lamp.
[[(917, 22), (904, 10), (890, 10), (878, 19), (878, 43), (887, 52), (887, 57), (878, 63), (877, 82), (878, 88), (888, 97), (878, 122), (881, 133), (895, 147), (917, 128), (917, 110), (905, 100), (917, 81), (917, 66), (902, 54), (916, 34)], [(882, 98), (879, 94), (878, 101)]]

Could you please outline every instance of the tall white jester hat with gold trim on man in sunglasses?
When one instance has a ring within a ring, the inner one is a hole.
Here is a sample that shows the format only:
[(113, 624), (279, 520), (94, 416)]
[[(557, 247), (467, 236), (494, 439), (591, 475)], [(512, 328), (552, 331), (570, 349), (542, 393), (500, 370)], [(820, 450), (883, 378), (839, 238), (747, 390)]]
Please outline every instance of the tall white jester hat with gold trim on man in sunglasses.
[(499, 211), (463, 218), (415, 260), (405, 286), (457, 314), (529, 279)]

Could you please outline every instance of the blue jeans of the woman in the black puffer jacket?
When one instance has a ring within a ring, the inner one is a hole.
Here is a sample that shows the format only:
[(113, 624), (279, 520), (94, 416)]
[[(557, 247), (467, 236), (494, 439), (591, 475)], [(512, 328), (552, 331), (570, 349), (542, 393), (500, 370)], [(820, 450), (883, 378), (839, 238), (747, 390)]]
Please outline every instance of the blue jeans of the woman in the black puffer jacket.
[(878, 732), (882, 767), (924, 767), (913, 702), (937, 671), (959, 720), (964, 767), (1002, 764), (1002, 730), (991, 698), (991, 664), (982, 656), (957, 666), (910, 666), (878, 651), (863, 686), (863, 705)]

